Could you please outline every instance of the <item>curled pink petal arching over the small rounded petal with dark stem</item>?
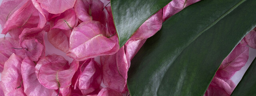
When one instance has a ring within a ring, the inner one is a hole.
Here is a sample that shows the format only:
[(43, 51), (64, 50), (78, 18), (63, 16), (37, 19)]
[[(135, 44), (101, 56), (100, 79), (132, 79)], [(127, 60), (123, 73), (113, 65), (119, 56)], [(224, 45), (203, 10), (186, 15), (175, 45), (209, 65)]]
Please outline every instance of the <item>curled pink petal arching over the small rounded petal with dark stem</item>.
[[(47, 28), (47, 27), (46, 27)], [(45, 43), (44, 43), (44, 33), (45, 28), (25, 28), (20, 34), (20, 44), (26, 39), (36, 39), (40, 44), (43, 45), (43, 50), (41, 56), (45, 56)]]

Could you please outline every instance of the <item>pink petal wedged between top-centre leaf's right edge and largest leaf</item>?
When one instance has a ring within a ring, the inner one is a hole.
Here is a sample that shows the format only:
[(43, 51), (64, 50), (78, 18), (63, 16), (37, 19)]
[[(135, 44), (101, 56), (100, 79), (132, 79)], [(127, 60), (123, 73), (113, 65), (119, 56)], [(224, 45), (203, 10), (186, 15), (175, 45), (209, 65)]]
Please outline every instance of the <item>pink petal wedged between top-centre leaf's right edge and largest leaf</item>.
[(131, 36), (130, 40), (147, 39), (156, 34), (162, 27), (162, 10), (146, 20)]

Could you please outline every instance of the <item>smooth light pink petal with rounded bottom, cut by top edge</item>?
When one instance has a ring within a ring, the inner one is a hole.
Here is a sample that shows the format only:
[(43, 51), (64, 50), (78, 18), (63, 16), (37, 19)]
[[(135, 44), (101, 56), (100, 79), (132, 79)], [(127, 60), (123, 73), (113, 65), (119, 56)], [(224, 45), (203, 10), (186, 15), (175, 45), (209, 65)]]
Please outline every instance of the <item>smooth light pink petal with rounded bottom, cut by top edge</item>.
[(72, 8), (76, 0), (37, 0), (41, 4), (42, 8), (47, 10), (51, 14), (62, 13), (69, 8)]

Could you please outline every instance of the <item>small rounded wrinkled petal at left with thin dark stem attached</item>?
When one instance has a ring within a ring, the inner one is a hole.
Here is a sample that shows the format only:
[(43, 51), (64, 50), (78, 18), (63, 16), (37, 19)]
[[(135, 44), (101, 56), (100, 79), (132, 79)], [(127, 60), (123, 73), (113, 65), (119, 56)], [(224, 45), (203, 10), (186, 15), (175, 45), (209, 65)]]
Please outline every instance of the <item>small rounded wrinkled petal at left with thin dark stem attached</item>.
[(36, 39), (24, 40), (21, 47), (25, 50), (26, 55), (32, 61), (38, 61), (38, 58), (41, 56), (44, 49), (44, 46)]

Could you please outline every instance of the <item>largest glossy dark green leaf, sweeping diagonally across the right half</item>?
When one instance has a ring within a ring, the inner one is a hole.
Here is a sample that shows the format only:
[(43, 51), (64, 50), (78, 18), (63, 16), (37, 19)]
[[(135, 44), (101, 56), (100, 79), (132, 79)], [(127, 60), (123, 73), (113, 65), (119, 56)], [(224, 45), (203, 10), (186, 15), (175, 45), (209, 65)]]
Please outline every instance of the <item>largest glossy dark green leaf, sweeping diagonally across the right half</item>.
[(202, 0), (149, 38), (128, 71), (132, 96), (203, 96), (220, 64), (256, 26), (256, 0)]

